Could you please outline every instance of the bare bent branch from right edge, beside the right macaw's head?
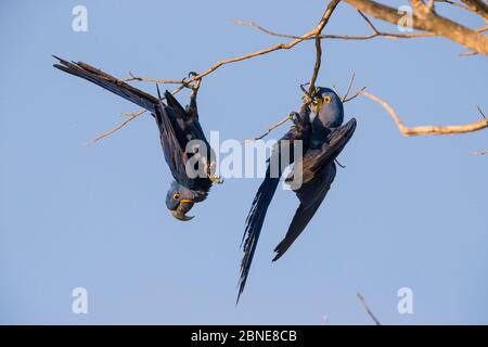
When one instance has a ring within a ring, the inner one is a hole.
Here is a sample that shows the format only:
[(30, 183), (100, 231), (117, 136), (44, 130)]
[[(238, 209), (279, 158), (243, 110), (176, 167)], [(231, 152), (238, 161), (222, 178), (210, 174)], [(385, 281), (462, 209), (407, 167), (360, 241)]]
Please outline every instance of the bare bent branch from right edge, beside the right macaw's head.
[(367, 92), (361, 91), (361, 94), (364, 97), (370, 98), (371, 100), (377, 102), (380, 105), (382, 105), (394, 118), (398, 130), (406, 137), (411, 136), (425, 136), (425, 134), (452, 134), (452, 133), (464, 133), (464, 132), (472, 132), (477, 131), (480, 129), (485, 129), (488, 127), (488, 119), (483, 118), (478, 121), (466, 124), (466, 125), (459, 125), (459, 126), (419, 126), (419, 127), (407, 127), (400, 120), (400, 118), (397, 116), (395, 111), (389, 106), (386, 102), (381, 100), (380, 98)]

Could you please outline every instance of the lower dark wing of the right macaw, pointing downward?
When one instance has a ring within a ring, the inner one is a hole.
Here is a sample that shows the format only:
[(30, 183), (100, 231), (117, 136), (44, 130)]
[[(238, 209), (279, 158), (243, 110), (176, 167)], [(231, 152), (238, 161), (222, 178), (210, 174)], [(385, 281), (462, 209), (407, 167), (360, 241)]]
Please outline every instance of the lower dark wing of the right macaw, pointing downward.
[(290, 223), (285, 237), (274, 248), (275, 256), (273, 261), (280, 259), (283, 254), (295, 242), (299, 234), (305, 230), (308, 222), (314, 216), (317, 209), (322, 204), (325, 195), (331, 189), (331, 184), (335, 178), (335, 164), (330, 164), (321, 175), (313, 180), (304, 183), (297, 191), (295, 191), (300, 205), (293, 216), (293, 220)]

